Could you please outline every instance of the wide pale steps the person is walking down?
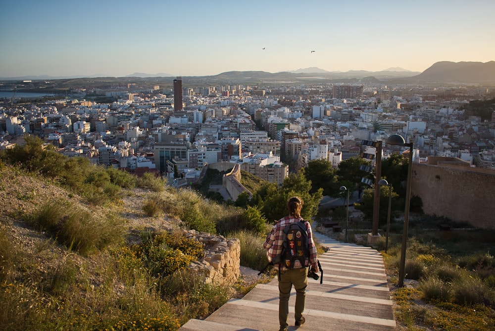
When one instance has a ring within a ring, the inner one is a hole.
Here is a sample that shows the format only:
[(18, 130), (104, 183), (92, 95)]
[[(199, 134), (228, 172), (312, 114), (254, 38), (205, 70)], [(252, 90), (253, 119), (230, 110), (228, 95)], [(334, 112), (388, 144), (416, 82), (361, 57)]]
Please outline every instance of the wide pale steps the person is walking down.
[[(329, 251), (319, 257), (323, 284), (308, 279), (306, 323), (294, 326), (293, 288), (289, 331), (396, 330), (392, 300), (381, 254), (370, 247), (347, 244), (314, 232)], [(258, 284), (242, 299), (231, 299), (206, 320), (190, 320), (180, 331), (279, 330), (278, 280)]]

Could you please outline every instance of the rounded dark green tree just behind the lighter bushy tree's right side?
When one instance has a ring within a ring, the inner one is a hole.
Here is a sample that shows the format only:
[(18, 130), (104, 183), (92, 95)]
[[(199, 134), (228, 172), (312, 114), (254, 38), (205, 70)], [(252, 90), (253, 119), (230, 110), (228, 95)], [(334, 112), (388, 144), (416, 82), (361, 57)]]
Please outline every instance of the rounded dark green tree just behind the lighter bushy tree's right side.
[(311, 193), (323, 189), (323, 195), (334, 195), (337, 188), (336, 170), (327, 160), (311, 160), (303, 169), (306, 180), (311, 182)]

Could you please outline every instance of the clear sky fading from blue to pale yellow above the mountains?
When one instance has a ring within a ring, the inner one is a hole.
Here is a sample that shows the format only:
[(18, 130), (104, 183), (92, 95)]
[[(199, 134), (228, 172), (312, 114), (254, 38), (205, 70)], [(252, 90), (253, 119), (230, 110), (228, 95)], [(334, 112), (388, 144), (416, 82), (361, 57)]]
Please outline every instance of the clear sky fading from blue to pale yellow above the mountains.
[(0, 77), (495, 60), (495, 0), (0, 0), (0, 12)]

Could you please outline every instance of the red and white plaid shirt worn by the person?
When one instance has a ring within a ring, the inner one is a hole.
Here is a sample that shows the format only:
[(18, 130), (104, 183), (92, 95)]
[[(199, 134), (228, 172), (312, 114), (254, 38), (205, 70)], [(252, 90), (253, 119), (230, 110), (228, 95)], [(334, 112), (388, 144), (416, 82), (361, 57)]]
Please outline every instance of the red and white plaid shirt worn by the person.
[[(280, 255), (282, 253), (282, 242), (284, 240), (284, 227), (289, 223), (295, 223), (301, 221), (302, 218), (295, 218), (294, 216), (287, 216), (275, 222), (272, 230), (266, 237), (265, 243), (263, 244), (263, 248), (266, 249), (266, 256), (268, 261), (271, 262), (273, 258)], [(318, 266), (317, 262), (317, 253), (316, 246), (313, 242), (313, 233), (311, 231), (311, 225), (308, 221), (304, 221), (304, 226), (306, 226), (306, 231), (308, 233), (308, 244), (309, 244), (309, 262), (311, 263), (311, 267), (316, 268)], [(286, 270), (285, 265), (278, 264), (275, 267), (280, 267), (281, 270)]]

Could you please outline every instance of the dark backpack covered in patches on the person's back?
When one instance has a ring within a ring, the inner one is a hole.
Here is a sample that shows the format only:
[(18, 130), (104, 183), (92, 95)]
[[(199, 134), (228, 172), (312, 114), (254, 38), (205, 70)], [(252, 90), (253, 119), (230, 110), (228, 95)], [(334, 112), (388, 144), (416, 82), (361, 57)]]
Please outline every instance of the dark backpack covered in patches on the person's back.
[(305, 220), (289, 223), (284, 227), (280, 264), (287, 269), (309, 266), (309, 242)]

